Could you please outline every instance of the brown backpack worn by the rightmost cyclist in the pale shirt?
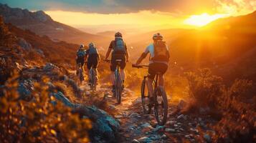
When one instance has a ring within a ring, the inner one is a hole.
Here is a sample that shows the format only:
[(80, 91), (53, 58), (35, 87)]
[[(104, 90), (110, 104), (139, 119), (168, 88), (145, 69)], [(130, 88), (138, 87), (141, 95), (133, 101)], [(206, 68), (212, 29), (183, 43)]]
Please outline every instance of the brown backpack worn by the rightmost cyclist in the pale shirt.
[(166, 41), (156, 41), (156, 43), (153, 45), (153, 50), (153, 61), (169, 61), (169, 50)]

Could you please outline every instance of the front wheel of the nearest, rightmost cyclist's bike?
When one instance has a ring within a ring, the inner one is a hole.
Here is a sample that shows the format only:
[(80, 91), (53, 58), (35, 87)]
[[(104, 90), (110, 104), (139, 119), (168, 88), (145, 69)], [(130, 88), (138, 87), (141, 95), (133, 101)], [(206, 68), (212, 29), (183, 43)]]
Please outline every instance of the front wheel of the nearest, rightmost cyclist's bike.
[(141, 103), (143, 107), (143, 112), (145, 114), (151, 113), (151, 106), (145, 102), (145, 99), (148, 98), (149, 102), (149, 96), (148, 96), (148, 87), (146, 86), (146, 79), (143, 79), (141, 84)]

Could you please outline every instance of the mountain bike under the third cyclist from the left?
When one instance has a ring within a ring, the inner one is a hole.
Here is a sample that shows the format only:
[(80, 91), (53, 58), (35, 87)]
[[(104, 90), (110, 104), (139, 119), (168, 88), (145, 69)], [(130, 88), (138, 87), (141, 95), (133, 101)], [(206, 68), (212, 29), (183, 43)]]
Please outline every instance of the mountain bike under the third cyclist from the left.
[[(106, 62), (110, 63), (110, 60), (105, 60)], [(117, 99), (118, 104), (121, 103), (121, 95), (123, 93), (123, 81), (120, 77), (120, 62), (121, 59), (116, 59), (115, 62), (117, 63), (116, 69), (115, 69), (115, 92), (114, 97)]]

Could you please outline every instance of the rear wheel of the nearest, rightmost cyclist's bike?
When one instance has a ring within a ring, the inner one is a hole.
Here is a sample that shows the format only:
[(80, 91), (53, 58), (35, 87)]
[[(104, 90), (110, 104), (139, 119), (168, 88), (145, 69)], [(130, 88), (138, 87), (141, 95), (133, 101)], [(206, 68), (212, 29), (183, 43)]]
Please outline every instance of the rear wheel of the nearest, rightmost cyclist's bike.
[(155, 95), (155, 117), (159, 125), (166, 124), (168, 115), (168, 102), (166, 97), (166, 92), (163, 87), (156, 87), (154, 91)]

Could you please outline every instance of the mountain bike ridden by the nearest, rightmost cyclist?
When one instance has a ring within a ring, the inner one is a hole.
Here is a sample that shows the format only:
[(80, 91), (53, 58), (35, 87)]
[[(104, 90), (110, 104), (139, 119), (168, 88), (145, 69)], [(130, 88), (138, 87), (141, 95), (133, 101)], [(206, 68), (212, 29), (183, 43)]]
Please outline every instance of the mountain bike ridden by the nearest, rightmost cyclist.
[[(148, 68), (148, 65), (139, 65), (136, 66), (133, 64), (133, 67), (138, 69), (140, 68)], [(154, 114), (156, 117), (156, 121), (159, 125), (166, 124), (167, 115), (168, 115), (168, 102), (166, 97), (166, 92), (162, 86), (158, 85), (159, 75), (161, 73), (156, 73), (156, 77), (153, 80), (153, 104), (146, 103), (146, 98), (149, 99), (148, 89), (146, 86), (146, 82), (148, 79), (148, 75), (143, 77), (143, 81), (141, 84), (141, 102), (143, 107), (143, 112), (145, 114), (151, 113), (151, 108), (154, 107)]]

